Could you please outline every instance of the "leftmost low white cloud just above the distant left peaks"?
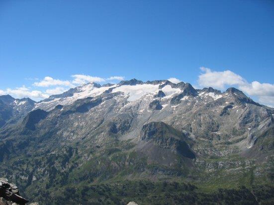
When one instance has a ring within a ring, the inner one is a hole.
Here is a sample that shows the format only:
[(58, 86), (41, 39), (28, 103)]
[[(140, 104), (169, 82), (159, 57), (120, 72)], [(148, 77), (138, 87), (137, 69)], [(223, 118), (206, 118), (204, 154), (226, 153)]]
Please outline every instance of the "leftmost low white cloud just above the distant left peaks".
[(29, 97), (31, 99), (44, 99), (49, 97), (48, 94), (45, 94), (39, 90), (30, 90), (27, 87), (17, 87), (15, 89), (7, 88), (5, 91), (5, 94), (9, 94), (15, 98), (23, 98), (23, 97)]

